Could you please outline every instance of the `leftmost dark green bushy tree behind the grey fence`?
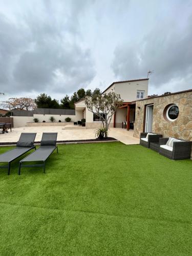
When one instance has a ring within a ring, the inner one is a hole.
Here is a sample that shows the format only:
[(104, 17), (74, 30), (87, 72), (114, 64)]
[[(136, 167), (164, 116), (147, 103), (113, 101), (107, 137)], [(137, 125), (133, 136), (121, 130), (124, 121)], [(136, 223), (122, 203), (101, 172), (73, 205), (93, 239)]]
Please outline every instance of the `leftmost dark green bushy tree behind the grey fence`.
[(48, 96), (45, 93), (41, 93), (35, 99), (37, 108), (43, 109), (59, 109), (59, 103), (56, 99), (52, 99), (51, 96)]

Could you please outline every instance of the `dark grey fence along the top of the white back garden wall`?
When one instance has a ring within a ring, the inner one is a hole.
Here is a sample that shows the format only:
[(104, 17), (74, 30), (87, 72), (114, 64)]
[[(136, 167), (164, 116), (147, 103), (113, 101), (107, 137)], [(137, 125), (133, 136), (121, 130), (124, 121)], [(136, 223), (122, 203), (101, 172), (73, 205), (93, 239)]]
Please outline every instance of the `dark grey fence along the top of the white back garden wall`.
[(75, 115), (75, 110), (63, 109), (35, 109), (35, 110), (12, 110), (13, 116), (33, 116), (33, 114), (40, 115)]

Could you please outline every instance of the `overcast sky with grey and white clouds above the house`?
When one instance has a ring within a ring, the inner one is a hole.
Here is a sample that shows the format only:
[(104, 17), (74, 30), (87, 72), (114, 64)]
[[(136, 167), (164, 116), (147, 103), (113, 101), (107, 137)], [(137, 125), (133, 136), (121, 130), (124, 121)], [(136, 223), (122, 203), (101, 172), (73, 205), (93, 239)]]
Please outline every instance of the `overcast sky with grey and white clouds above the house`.
[(191, 0), (0, 0), (2, 99), (61, 99), (148, 70), (149, 94), (192, 88)]

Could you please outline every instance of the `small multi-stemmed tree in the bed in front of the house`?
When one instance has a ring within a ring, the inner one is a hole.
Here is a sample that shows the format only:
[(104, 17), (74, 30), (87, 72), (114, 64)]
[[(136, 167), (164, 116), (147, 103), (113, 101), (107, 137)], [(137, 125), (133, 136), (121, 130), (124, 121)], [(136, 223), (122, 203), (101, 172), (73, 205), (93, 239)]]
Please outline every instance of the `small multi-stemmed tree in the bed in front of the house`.
[[(84, 102), (89, 111), (100, 117), (105, 131), (105, 137), (107, 137), (112, 116), (123, 102), (120, 95), (114, 91), (108, 94), (101, 94), (100, 90), (96, 88), (91, 97), (86, 96)], [(105, 115), (101, 115), (101, 113)]]

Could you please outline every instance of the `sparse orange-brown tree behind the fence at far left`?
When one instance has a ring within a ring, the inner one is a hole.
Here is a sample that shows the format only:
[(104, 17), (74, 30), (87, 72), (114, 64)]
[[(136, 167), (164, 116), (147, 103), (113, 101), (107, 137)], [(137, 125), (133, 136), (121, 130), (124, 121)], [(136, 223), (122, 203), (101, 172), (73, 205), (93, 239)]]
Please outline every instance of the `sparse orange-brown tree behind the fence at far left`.
[(31, 98), (9, 98), (4, 105), (10, 110), (33, 110), (36, 104)]

